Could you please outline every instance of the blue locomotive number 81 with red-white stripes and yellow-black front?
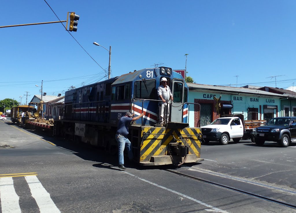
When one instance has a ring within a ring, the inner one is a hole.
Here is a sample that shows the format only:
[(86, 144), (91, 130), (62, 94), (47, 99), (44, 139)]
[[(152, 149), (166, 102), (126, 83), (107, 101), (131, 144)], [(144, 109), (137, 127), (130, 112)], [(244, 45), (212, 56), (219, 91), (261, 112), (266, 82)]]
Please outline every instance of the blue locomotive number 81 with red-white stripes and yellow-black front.
[[(157, 87), (166, 77), (174, 100), (169, 122), (157, 124)], [(144, 116), (129, 127), (135, 161), (140, 165), (200, 162), (201, 132), (188, 124), (188, 86), (168, 67), (141, 69), (65, 92), (64, 116), (54, 121), (54, 134), (73, 141), (117, 149), (115, 134), (126, 112)]]

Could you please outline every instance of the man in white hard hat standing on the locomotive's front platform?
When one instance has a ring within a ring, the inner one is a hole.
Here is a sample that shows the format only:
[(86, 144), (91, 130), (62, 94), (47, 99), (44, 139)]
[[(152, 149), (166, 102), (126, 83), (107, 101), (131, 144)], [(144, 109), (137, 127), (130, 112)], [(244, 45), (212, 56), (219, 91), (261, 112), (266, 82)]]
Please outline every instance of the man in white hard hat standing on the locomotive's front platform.
[[(166, 85), (168, 80), (165, 77), (162, 77), (160, 79), (161, 85), (157, 88), (157, 95), (159, 97), (159, 100), (162, 100), (159, 104), (159, 113), (158, 113), (158, 118), (159, 118), (159, 124), (166, 125), (168, 122), (168, 117), (170, 115), (170, 108), (168, 107), (168, 101), (172, 100), (173, 101), (173, 94), (170, 91), (170, 87)], [(168, 108), (168, 114), (166, 114)], [(165, 120), (165, 121), (164, 121)]]

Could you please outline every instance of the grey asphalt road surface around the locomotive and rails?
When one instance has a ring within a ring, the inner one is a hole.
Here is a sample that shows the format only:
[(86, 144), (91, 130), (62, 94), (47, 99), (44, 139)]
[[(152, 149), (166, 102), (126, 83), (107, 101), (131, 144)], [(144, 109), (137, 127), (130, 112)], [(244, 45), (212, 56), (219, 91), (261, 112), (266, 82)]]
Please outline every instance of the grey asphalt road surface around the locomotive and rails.
[[(295, 212), (165, 170), (172, 167), (127, 163), (127, 170), (122, 171), (117, 167), (117, 156), (24, 130), (8, 121), (0, 121), (0, 146), (1, 213), (12, 209), (11, 212), (17, 212), (18, 205), (21, 212), (51, 213)], [(212, 142), (202, 145), (205, 161), (176, 170), (220, 181), (219, 176), (205, 173), (213, 171), (294, 190), (295, 157), (291, 157), (294, 149), (255, 147), (250, 143), (221, 146)], [(234, 184), (230, 178), (223, 181)], [(278, 190), (274, 193), (279, 194)], [(290, 195), (282, 195), (287, 194)]]

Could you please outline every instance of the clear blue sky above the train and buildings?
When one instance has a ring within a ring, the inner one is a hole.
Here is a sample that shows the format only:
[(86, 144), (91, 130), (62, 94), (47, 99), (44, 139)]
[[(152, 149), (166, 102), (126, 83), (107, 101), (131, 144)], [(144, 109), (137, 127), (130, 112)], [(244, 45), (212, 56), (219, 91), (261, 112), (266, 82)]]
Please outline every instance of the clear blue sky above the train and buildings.
[[(113, 77), (156, 63), (185, 69), (189, 54), (188, 76), (199, 84), (275, 87), (271, 76), (280, 88), (296, 83), (295, 0), (47, 2), (61, 20), (80, 15), (70, 33), (106, 70), (108, 51), (93, 42), (112, 46)], [(1, 26), (58, 20), (43, 0), (2, 1), (0, 11)], [(57, 95), (107, 74), (60, 23), (0, 28), (0, 38), (0, 100), (25, 91), (30, 100), (41, 80)]]

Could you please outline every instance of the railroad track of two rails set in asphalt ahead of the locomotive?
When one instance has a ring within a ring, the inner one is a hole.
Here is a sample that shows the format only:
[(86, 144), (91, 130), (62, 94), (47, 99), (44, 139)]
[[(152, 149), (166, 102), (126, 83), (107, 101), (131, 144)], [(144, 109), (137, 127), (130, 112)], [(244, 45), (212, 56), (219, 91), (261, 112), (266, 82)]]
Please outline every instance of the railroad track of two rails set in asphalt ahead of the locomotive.
[[(183, 166), (183, 167), (186, 167), (186, 166)], [(279, 205), (282, 205), (282, 206), (290, 207), (292, 209), (296, 209), (295, 204), (286, 203), (286, 202), (283, 202), (283, 201), (279, 201), (279, 200), (272, 199), (272, 198), (269, 198), (269, 197), (266, 197), (266, 196), (261, 196), (261, 195), (258, 195), (258, 194), (254, 194), (252, 192), (244, 191), (244, 190), (234, 188), (234, 187), (231, 187), (231, 186), (226, 186), (226, 185), (216, 183), (216, 182), (213, 182), (213, 181), (208, 181), (208, 180), (205, 180), (203, 178), (198, 178), (198, 177), (194, 177), (192, 175), (183, 174), (183, 173), (178, 172), (176, 170), (166, 169), (165, 171), (176, 174), (176, 175), (180, 175), (180, 176), (183, 176), (183, 177), (186, 177), (186, 178), (190, 178), (190, 179), (193, 179), (193, 180), (196, 180), (196, 181), (200, 181), (200, 182), (203, 182), (203, 183), (208, 183), (208, 184), (218, 186), (218, 187), (221, 187), (221, 188), (226, 188), (226, 189), (229, 189), (231, 191), (235, 191), (235, 192), (238, 192), (238, 193), (241, 193), (241, 194), (249, 195), (249, 196), (259, 198), (259, 199), (262, 199), (262, 200), (265, 200), (265, 201), (273, 202), (273, 203), (276, 203), (276, 204), (279, 204)], [(199, 171), (199, 170), (197, 169), (197, 171)], [(208, 173), (210, 173), (210, 172), (208, 172)], [(215, 173), (215, 175), (217, 175), (217, 173)], [(226, 175), (218, 175), (218, 176), (226, 177)], [(239, 179), (239, 178), (236, 178), (236, 179)], [(248, 182), (252, 183), (251, 181), (247, 181), (247, 183)], [(255, 182), (254, 182), (254, 184), (258, 185), (258, 186), (268, 187), (268, 188), (271, 188), (271, 189), (278, 189), (278, 190), (289, 192), (289, 193), (292, 193), (292, 194), (296, 195), (295, 191), (290, 191), (290, 190), (285, 190), (285, 189), (281, 189), (281, 188), (277, 188), (277, 187), (267, 186), (267, 185), (259, 184), (259, 183), (255, 183)]]

